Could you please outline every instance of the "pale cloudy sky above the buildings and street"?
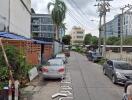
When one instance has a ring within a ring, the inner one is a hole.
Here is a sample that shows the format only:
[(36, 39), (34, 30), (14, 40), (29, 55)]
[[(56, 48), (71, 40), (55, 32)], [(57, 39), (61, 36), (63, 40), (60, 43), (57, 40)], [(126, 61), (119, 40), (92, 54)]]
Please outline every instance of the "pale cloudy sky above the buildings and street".
[[(32, 8), (36, 13), (48, 13), (47, 4), (53, 0), (31, 0)], [(66, 27), (69, 34), (73, 26), (80, 26), (85, 29), (85, 34), (91, 33), (98, 36), (99, 14), (95, 4), (96, 0), (64, 0), (67, 5)], [(113, 0), (110, 1), (110, 12), (107, 13), (106, 21), (110, 21), (115, 15), (120, 14), (121, 7), (132, 4), (132, 0)]]

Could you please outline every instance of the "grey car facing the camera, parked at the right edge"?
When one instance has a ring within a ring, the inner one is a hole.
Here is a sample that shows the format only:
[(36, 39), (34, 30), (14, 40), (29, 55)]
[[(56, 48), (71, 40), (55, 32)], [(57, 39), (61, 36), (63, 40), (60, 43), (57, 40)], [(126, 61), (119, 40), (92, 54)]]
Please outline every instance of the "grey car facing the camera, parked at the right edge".
[(114, 84), (124, 84), (132, 80), (132, 65), (125, 61), (108, 60), (103, 65), (103, 73), (107, 75)]

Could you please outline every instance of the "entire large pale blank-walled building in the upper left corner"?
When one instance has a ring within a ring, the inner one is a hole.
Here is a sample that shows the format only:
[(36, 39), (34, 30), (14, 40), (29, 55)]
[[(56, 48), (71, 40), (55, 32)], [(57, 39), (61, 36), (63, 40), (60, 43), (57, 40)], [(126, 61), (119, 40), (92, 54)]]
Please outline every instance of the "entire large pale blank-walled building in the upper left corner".
[(0, 31), (30, 37), (31, 0), (0, 1)]

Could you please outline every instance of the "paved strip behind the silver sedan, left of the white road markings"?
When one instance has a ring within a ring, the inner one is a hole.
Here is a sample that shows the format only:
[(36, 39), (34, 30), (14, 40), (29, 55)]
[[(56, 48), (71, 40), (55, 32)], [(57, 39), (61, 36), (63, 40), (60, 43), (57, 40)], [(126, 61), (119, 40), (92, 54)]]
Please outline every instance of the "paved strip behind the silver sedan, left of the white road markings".
[[(21, 100), (52, 100), (51, 96), (60, 89), (60, 80), (43, 80), (40, 74), (22, 89)], [(55, 100), (55, 99), (54, 99)]]

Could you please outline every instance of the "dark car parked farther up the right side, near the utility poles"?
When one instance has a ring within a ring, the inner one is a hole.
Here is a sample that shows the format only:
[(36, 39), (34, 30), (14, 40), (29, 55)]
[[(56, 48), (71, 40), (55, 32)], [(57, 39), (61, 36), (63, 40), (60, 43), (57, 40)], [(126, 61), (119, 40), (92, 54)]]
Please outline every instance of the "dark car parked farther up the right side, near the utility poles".
[(93, 62), (99, 61), (102, 58), (100, 53), (93, 52), (93, 51), (87, 52), (86, 56), (87, 56), (89, 61), (93, 61)]

